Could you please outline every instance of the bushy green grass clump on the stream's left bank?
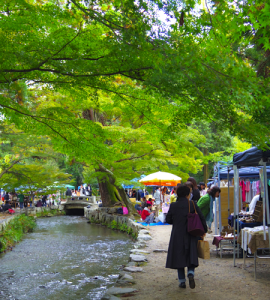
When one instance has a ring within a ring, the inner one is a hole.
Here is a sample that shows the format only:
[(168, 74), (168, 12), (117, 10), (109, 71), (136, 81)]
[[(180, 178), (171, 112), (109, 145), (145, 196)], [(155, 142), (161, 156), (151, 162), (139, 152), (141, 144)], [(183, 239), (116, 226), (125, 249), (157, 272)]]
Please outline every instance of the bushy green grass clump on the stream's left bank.
[(0, 252), (12, 248), (25, 233), (32, 232), (35, 227), (34, 217), (22, 214), (12, 219), (4, 231), (0, 233)]

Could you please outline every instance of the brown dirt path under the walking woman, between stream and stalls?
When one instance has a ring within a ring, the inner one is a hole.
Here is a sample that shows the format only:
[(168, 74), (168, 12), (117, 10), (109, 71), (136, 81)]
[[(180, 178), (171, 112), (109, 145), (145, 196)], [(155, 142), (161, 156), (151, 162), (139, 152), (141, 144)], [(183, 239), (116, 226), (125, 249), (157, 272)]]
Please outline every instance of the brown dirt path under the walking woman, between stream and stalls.
[[(196, 288), (191, 290), (178, 287), (177, 271), (166, 269), (166, 253), (153, 253), (154, 249), (167, 249), (170, 239), (171, 226), (150, 227), (153, 239), (147, 248), (151, 254), (147, 255), (149, 263), (143, 266), (145, 273), (132, 274), (136, 284), (132, 287), (139, 290), (130, 300), (258, 300), (270, 299), (270, 260), (257, 260), (257, 281), (253, 277), (253, 259), (247, 259), (246, 270), (242, 269), (243, 259), (237, 260), (237, 267), (233, 267), (231, 254), (220, 259), (214, 252), (212, 236), (207, 235), (211, 245), (211, 259), (199, 261), (195, 269)], [(188, 282), (187, 282), (188, 283)]]

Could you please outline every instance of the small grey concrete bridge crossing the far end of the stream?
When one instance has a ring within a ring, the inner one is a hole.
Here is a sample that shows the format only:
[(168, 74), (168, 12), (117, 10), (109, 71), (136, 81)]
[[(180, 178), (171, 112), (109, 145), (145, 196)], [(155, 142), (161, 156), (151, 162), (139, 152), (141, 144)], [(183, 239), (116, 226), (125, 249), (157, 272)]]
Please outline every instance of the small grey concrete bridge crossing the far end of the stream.
[[(72, 200), (74, 199), (74, 200)], [(98, 203), (95, 196), (75, 196), (69, 197), (64, 205), (64, 210), (67, 215), (84, 215), (84, 208), (89, 206), (91, 208), (98, 208)]]

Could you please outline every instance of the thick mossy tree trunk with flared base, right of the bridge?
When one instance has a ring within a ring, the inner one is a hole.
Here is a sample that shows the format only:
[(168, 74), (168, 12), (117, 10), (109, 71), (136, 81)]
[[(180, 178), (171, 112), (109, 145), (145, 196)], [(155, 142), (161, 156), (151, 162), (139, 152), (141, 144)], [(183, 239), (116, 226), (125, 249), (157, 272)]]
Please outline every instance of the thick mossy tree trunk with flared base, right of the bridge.
[[(115, 185), (114, 174), (101, 164), (99, 165), (97, 172), (99, 173), (98, 182), (102, 205), (104, 207), (110, 207), (120, 201), (127, 207), (129, 215), (137, 215), (138, 213), (126, 195), (125, 190), (122, 187)], [(101, 175), (102, 173), (104, 176)]]

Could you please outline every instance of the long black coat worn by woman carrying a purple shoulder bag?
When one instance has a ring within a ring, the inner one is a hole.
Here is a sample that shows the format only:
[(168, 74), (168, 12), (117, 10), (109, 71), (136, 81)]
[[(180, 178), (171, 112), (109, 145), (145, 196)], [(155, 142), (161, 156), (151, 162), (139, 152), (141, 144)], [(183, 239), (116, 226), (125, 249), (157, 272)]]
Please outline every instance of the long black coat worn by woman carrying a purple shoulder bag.
[[(198, 267), (198, 238), (187, 232), (188, 202), (185, 197), (177, 198), (177, 201), (170, 205), (166, 222), (173, 224), (169, 250), (167, 255), (166, 268), (179, 269), (184, 267)], [(200, 216), (205, 232), (207, 225), (202, 212), (197, 204), (196, 211)], [(190, 212), (194, 213), (192, 201), (190, 201)]]

